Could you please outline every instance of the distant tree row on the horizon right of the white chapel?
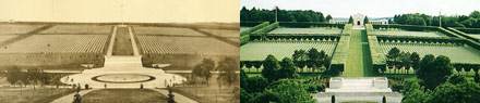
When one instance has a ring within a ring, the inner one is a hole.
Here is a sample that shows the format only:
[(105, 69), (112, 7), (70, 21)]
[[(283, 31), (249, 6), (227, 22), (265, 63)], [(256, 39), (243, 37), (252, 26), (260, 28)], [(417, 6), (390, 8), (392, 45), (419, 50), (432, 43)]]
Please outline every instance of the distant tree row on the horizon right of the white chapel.
[[(480, 27), (480, 12), (473, 11), (469, 15), (441, 16), (443, 27)], [(431, 16), (427, 14), (399, 14), (394, 16), (396, 24), (420, 25), (420, 26), (439, 26), (440, 16)]]

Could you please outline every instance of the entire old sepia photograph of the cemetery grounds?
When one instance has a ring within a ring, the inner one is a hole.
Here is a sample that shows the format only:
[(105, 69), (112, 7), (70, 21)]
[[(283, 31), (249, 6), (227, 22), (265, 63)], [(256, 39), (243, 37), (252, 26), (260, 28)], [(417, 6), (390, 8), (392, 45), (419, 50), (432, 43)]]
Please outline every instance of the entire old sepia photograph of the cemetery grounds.
[(239, 103), (239, 0), (0, 0), (0, 103)]

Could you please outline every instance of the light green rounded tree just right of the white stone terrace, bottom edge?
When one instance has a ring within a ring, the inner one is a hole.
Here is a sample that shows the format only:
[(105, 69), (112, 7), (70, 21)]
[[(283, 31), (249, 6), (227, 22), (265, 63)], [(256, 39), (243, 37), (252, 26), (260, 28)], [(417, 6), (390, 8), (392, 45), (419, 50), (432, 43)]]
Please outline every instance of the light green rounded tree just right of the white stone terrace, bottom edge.
[(417, 79), (407, 79), (400, 93), (404, 95), (401, 103), (423, 103), (428, 93), (423, 92), (424, 88), (419, 85)]

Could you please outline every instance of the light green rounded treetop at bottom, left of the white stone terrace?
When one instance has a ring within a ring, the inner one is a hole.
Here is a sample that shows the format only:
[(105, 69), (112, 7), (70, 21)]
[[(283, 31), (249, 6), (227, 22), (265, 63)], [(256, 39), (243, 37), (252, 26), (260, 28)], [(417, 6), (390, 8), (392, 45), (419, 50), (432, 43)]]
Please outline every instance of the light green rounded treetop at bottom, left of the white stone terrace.
[(305, 87), (293, 79), (280, 79), (268, 87), (277, 103), (315, 103)]

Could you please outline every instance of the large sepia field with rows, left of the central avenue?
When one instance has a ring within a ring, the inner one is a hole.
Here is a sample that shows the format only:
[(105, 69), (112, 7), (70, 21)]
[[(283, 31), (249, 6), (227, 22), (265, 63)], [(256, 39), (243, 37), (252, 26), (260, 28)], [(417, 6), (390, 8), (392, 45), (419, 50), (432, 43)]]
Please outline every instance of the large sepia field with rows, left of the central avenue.
[(33, 35), (0, 49), (1, 53), (101, 53), (108, 35)]

